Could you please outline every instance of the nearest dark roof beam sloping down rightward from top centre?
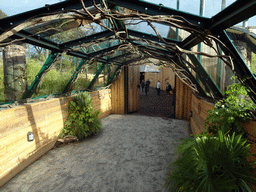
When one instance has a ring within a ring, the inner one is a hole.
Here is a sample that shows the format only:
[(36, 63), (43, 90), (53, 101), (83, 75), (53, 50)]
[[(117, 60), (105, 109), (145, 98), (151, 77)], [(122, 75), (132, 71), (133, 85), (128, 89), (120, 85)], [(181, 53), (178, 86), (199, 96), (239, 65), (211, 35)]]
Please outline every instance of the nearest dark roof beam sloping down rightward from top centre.
[(148, 3), (142, 0), (107, 0), (107, 2), (113, 3), (116, 6), (125, 7), (128, 9), (137, 10), (150, 15), (180, 15), (191, 23), (197, 24), (200, 22), (200, 26), (204, 26), (210, 21), (209, 18), (200, 17), (190, 13), (178, 11), (165, 6)]

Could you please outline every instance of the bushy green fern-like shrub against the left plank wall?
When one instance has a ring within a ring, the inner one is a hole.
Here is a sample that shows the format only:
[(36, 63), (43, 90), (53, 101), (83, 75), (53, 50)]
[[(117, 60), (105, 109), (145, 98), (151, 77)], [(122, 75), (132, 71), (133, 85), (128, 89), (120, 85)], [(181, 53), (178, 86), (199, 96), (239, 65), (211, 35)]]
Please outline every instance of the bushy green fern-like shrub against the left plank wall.
[(70, 101), (69, 116), (59, 137), (74, 135), (78, 139), (97, 134), (101, 129), (100, 111), (93, 111), (92, 98), (88, 92), (79, 93)]

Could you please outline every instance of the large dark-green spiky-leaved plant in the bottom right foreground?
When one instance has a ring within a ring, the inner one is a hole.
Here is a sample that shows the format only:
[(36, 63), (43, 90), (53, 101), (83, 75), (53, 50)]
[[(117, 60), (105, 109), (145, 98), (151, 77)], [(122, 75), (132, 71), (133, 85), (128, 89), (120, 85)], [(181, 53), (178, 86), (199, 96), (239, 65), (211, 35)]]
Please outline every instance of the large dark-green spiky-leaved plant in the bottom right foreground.
[(178, 158), (169, 167), (165, 187), (169, 191), (251, 191), (255, 162), (247, 161), (250, 146), (235, 133), (217, 136), (203, 133), (178, 146)]

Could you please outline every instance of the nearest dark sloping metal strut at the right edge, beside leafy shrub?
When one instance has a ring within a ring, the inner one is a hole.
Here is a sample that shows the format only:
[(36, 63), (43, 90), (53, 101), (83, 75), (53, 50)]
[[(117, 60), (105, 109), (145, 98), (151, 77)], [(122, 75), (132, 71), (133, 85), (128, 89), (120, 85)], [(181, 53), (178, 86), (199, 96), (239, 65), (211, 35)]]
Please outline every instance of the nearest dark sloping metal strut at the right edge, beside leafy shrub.
[[(252, 98), (252, 100), (256, 103), (256, 77), (255, 75), (250, 71), (244, 60), (242, 59), (241, 55), (235, 48), (234, 44), (230, 41), (227, 33), (223, 31), (219, 34), (219, 39), (228, 47), (228, 49), (233, 53), (232, 58), (233, 60), (233, 66), (234, 70), (236, 72), (236, 75), (240, 79), (245, 79), (244, 83), (246, 86), (250, 89), (249, 95)], [(225, 47), (221, 47), (223, 52), (226, 55), (230, 55), (229, 50)]]

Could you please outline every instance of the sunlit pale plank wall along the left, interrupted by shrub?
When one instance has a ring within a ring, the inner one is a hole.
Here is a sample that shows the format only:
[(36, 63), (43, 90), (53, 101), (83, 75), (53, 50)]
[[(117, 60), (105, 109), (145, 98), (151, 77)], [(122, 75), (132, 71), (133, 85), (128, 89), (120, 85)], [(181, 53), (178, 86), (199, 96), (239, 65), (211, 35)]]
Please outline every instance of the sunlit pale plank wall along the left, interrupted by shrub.
[[(110, 90), (91, 93), (100, 118), (111, 114)], [(71, 97), (27, 104), (0, 111), (0, 186), (54, 147), (68, 116)], [(27, 133), (34, 141), (27, 141)]]

